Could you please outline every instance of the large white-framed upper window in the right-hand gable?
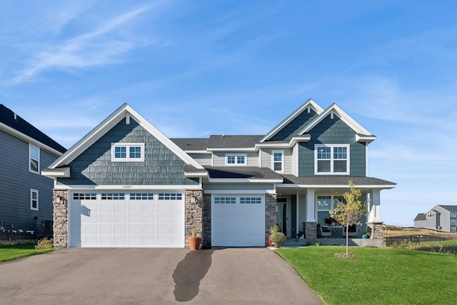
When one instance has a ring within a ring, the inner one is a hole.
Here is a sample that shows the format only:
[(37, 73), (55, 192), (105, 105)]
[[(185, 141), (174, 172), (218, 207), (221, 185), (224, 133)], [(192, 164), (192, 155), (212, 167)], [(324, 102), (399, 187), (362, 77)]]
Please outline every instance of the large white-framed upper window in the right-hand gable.
[(349, 174), (349, 145), (314, 146), (315, 174)]

